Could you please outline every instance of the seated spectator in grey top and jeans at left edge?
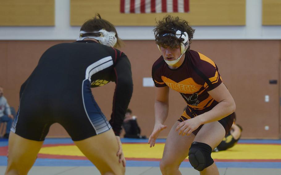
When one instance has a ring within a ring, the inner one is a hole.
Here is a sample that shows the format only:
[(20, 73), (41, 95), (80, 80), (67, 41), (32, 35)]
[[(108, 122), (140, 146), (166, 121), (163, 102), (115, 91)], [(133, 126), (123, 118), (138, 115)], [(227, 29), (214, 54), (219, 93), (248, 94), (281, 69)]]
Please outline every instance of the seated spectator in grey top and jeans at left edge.
[(7, 102), (7, 99), (3, 96), (3, 87), (0, 86), (0, 122), (7, 122), (6, 133), (4, 138), (9, 138), (10, 129), (13, 123), (14, 116), (11, 114), (10, 106)]

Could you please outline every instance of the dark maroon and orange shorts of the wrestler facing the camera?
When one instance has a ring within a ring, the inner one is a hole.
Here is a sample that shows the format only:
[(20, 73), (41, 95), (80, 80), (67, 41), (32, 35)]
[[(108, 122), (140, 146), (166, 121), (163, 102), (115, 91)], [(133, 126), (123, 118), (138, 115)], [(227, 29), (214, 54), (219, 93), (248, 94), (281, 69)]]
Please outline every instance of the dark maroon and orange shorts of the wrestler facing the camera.
[[(205, 108), (203, 110), (194, 110), (194, 109), (187, 107), (186, 110), (183, 112), (182, 116), (178, 119), (178, 121), (183, 122), (184, 120), (194, 118), (195, 116), (198, 116), (198, 115), (208, 112), (210, 110), (211, 109), (208, 109), (208, 108)], [(235, 113), (233, 112), (229, 116), (226, 116), (226, 117), (218, 120), (218, 122), (220, 122), (220, 124), (225, 129), (225, 135), (229, 132), (229, 130), (233, 124), (234, 116), (235, 116)], [(192, 133), (196, 136), (197, 133), (199, 132), (199, 130), (202, 128), (202, 126), (203, 126), (203, 124), (200, 125), (197, 129), (195, 129)]]

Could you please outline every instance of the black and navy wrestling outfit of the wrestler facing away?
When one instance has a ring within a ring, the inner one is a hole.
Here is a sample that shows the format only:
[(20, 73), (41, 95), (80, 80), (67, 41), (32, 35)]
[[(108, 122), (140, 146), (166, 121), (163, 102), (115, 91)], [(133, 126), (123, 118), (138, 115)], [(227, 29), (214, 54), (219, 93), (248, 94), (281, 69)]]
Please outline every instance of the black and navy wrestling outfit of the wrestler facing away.
[[(95, 102), (91, 88), (116, 83), (111, 120)], [(74, 141), (111, 127), (120, 135), (132, 96), (131, 64), (112, 47), (84, 40), (50, 47), (20, 89), (20, 107), (12, 129), (30, 140), (44, 140), (53, 123)]]

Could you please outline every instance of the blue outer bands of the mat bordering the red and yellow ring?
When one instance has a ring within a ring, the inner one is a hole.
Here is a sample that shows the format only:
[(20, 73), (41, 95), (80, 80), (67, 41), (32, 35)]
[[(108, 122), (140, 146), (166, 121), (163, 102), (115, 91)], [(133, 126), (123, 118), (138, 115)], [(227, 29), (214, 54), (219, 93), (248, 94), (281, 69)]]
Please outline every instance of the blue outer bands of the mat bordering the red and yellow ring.
[[(122, 143), (147, 143), (148, 139), (122, 138)], [(157, 143), (165, 143), (166, 139), (157, 139)], [(70, 138), (46, 139), (44, 144), (71, 144)], [(239, 140), (238, 143), (261, 143), (261, 144), (281, 144), (281, 140)], [(7, 139), (0, 139), (0, 147), (7, 146)], [(7, 157), (0, 156), (0, 166), (7, 165)], [(216, 162), (219, 168), (280, 168), (281, 162)], [(67, 159), (42, 159), (38, 158), (34, 166), (93, 166), (88, 160), (67, 160)], [(127, 161), (128, 167), (159, 167), (158, 161)], [(189, 167), (189, 162), (182, 162), (181, 167)]]

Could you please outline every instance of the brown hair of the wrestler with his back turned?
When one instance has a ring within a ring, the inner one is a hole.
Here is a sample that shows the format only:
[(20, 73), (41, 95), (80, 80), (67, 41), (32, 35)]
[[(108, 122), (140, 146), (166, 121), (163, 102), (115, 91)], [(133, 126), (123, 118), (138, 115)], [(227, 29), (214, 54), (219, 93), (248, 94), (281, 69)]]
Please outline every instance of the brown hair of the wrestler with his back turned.
[[(117, 43), (115, 46), (120, 47), (121, 46), (121, 39), (117, 35), (117, 31), (115, 29), (115, 26), (111, 24), (109, 21), (102, 19), (100, 14), (96, 14), (95, 17), (92, 19), (88, 19), (84, 24), (81, 26), (80, 31), (86, 31), (86, 32), (93, 32), (93, 31), (99, 31), (101, 29), (104, 29), (106, 31), (113, 31), (115, 32), (115, 37), (117, 38)], [(83, 34), (82, 37), (86, 36), (100, 36), (99, 34), (91, 34), (91, 33), (86, 33)]]

